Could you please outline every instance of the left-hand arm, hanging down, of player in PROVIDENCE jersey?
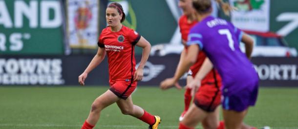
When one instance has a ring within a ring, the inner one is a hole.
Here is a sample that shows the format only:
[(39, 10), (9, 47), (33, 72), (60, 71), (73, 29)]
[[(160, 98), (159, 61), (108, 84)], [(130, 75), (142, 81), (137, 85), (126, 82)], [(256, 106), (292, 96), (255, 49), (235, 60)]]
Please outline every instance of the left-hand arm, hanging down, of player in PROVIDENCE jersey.
[(87, 66), (85, 71), (79, 76), (79, 84), (81, 86), (85, 85), (85, 79), (90, 71), (92, 71), (97, 65), (99, 65), (106, 56), (106, 49), (105, 47), (98, 47), (96, 55), (91, 60), (90, 64)]

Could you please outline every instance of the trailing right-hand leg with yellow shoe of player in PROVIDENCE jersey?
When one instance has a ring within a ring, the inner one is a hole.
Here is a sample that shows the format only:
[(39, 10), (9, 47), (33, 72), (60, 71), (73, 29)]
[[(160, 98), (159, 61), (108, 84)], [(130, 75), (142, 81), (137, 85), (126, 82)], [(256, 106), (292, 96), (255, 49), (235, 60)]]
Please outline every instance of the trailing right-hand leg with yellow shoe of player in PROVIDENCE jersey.
[(158, 116), (153, 116), (143, 108), (133, 105), (131, 96), (129, 96), (126, 100), (118, 100), (117, 105), (121, 109), (121, 112), (123, 114), (131, 115), (142, 120), (143, 122), (149, 124), (149, 126), (151, 126), (152, 129), (157, 129), (158, 124), (161, 121)]

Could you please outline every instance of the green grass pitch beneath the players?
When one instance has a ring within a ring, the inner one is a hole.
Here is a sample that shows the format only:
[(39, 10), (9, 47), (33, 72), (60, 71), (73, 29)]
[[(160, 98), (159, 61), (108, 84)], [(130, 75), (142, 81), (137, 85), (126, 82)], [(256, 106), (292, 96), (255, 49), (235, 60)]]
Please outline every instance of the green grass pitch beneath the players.
[[(0, 129), (80, 129), (93, 100), (107, 88), (0, 87)], [(159, 129), (177, 129), (183, 94), (183, 90), (138, 86), (132, 98), (135, 105), (162, 118)], [(245, 122), (255, 127), (298, 129), (298, 88), (260, 88), (257, 104)], [(95, 129), (147, 128), (113, 104), (103, 110)]]

